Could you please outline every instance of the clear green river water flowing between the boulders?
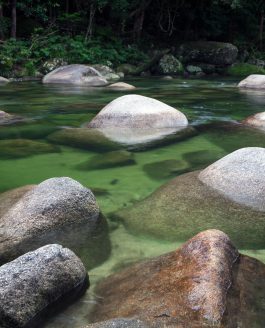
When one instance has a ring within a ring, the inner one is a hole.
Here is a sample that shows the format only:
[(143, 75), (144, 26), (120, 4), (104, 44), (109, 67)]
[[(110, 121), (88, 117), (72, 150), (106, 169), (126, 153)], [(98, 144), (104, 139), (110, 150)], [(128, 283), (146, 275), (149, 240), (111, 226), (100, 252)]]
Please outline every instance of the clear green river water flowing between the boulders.
[[(60, 147), (60, 152), (9, 158), (0, 147), (0, 192), (26, 184), (36, 184), (50, 177), (69, 176), (97, 190), (103, 213), (113, 212), (143, 199), (169, 179), (180, 174), (165, 167), (150, 169), (150, 164), (178, 160), (185, 171), (193, 171), (227, 153), (245, 146), (263, 146), (260, 134), (227, 129), (219, 121), (234, 122), (264, 111), (265, 94), (242, 92), (238, 81), (224, 80), (129, 80), (138, 89), (134, 93), (156, 98), (186, 114), (198, 133), (192, 138), (135, 152), (135, 164), (100, 170), (79, 170), (77, 166), (97, 155), (94, 151)], [(32, 121), (26, 125), (0, 128), (0, 139), (27, 138), (46, 141), (46, 136), (61, 126), (79, 127), (111, 100), (128, 92), (104, 88), (46, 86), (17, 83), (1, 86), (0, 110), (23, 115)], [(26, 127), (26, 128), (25, 128)], [(25, 132), (26, 131), (26, 132)], [(246, 133), (245, 133), (246, 132)], [(15, 145), (15, 144), (14, 144)], [(2, 152), (2, 153), (1, 153)], [(192, 160), (194, 152), (203, 154), (200, 163)], [(10, 157), (12, 157), (10, 156)], [(149, 166), (148, 166), (149, 165)], [(108, 261), (89, 272), (89, 292), (45, 327), (81, 327), (89, 322), (89, 308), (96, 300), (93, 286), (101, 278), (135, 261), (173, 250), (180, 241), (166, 243), (129, 234), (122, 226), (110, 233), (112, 255)], [(243, 250), (265, 262), (265, 251)]]

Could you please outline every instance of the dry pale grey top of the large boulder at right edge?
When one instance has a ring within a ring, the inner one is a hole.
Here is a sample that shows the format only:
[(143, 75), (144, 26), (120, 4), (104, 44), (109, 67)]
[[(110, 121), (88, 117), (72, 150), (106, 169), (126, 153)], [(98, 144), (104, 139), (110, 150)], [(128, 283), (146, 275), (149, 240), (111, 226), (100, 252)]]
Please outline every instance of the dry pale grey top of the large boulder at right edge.
[(208, 166), (199, 179), (239, 204), (265, 211), (265, 148), (234, 151)]

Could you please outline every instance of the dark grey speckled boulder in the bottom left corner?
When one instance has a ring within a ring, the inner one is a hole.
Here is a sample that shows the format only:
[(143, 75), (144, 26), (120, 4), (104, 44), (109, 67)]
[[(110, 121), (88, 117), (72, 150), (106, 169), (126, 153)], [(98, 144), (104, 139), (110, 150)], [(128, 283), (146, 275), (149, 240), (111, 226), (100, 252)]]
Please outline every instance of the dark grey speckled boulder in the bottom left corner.
[(60, 245), (46, 245), (0, 267), (0, 326), (39, 327), (58, 306), (88, 287), (81, 260)]

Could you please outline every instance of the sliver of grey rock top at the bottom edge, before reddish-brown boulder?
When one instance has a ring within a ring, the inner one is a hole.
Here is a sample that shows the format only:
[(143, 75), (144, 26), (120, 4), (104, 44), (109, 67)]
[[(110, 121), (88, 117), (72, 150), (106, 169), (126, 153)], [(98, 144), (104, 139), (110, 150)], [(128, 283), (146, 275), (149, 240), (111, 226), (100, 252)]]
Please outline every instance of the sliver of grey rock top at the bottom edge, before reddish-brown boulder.
[(119, 318), (104, 322), (96, 322), (85, 328), (148, 328), (147, 324), (138, 319)]

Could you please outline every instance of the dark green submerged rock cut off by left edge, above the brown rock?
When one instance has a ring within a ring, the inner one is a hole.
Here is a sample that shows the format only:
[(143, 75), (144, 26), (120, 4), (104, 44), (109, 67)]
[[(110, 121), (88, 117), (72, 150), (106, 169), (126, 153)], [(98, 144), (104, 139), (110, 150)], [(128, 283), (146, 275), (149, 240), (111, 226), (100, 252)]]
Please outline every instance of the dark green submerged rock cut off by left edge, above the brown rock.
[(1, 159), (12, 159), (58, 152), (60, 152), (58, 146), (46, 142), (27, 139), (0, 140)]

